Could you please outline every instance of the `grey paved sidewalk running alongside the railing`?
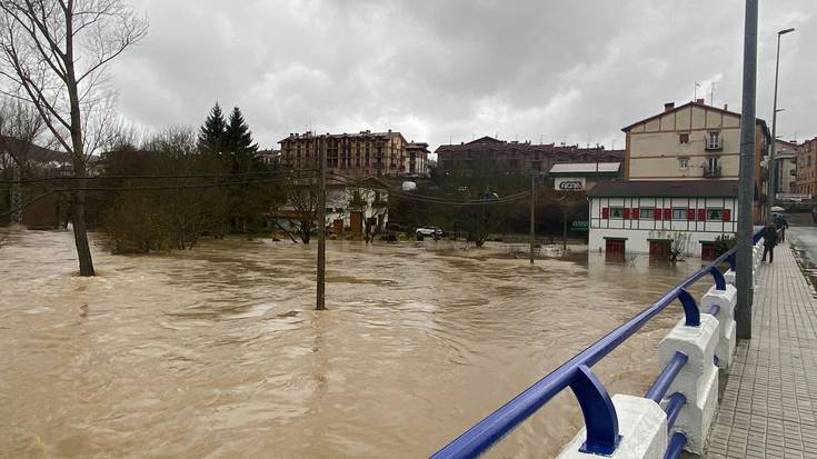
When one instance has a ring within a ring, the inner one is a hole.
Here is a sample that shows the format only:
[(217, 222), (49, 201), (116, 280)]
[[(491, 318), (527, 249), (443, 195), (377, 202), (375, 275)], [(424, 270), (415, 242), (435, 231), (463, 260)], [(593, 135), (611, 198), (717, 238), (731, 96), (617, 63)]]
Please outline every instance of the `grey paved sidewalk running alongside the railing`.
[(817, 459), (817, 300), (788, 243), (757, 271), (753, 339), (738, 342), (707, 458)]

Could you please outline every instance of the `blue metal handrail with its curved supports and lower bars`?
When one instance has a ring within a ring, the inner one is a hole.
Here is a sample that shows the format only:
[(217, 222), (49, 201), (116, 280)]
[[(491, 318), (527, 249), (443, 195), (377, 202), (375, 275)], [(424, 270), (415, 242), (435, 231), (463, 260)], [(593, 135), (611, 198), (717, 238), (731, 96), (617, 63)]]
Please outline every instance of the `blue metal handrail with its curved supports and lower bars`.
[[(753, 243), (756, 243), (761, 236), (763, 230), (755, 233)], [(735, 270), (736, 250), (737, 247), (733, 248), (715, 259), (710, 265), (686, 278), (627, 323), (607, 333), (604, 338), (562, 363), (550, 375), (530, 386), (487, 418), (477, 422), (477, 425), (448, 443), (445, 448), (434, 453), (431, 459), (470, 459), (479, 457), (568, 387), (576, 395), (585, 418), (587, 440), (580, 450), (582, 452), (604, 456), (609, 456), (615, 452), (620, 440), (618, 417), (609, 393), (601, 381), (592, 373), (590, 367), (598, 363), (619, 345), (635, 335), (650, 319), (656, 317), (675, 300), (680, 301), (684, 308), (686, 326), (700, 326), (698, 305), (687, 289), (701, 278), (711, 276), (715, 280), (716, 289), (726, 290), (726, 280), (718, 267), (724, 262), (728, 262), (729, 267)], [(711, 311), (717, 313), (718, 311), (710, 309)], [(660, 401), (686, 361), (687, 356), (677, 352), (647, 391), (646, 398)], [(669, 403), (665, 409), (667, 412), (668, 428), (672, 427), (685, 403), (686, 397), (684, 395), (676, 392), (670, 396)], [(672, 435), (665, 458), (678, 457), (687, 439), (684, 433), (677, 432)]]

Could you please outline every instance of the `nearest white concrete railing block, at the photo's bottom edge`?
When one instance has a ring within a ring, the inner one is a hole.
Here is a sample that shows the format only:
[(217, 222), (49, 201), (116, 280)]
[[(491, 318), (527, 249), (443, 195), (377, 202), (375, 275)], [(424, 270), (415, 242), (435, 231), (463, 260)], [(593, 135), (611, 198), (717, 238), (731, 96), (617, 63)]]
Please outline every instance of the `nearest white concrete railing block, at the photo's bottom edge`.
[[(717, 385), (716, 385), (717, 386)], [(668, 446), (667, 413), (652, 400), (641, 397), (616, 395), (612, 406), (618, 415), (618, 433), (621, 442), (611, 459), (661, 459)], [(559, 452), (559, 459), (598, 459), (599, 456), (581, 452), (587, 439), (581, 429)]]

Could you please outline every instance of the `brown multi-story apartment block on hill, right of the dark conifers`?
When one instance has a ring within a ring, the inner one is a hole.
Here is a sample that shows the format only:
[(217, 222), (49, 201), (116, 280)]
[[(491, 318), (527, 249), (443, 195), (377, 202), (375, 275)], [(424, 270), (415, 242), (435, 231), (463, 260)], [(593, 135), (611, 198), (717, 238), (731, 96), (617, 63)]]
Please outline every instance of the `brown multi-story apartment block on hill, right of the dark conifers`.
[(406, 139), (400, 132), (341, 134), (290, 133), (281, 144), (281, 164), (316, 167), (319, 149), (326, 148), (327, 171), (343, 177), (402, 177), (406, 174)]

